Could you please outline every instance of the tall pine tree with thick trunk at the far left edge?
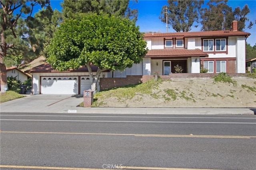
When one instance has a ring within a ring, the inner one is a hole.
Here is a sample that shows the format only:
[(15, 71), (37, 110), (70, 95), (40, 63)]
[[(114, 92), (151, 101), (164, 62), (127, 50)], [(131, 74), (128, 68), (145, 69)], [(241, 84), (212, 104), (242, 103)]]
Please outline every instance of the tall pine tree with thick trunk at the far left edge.
[[(30, 58), (42, 50), (43, 28), (32, 16), (35, 6), (50, 7), (49, 0), (0, 0), (1, 51), (0, 81), (1, 92), (8, 89), (6, 65), (14, 56)], [(10, 62), (9, 62), (10, 63)]]

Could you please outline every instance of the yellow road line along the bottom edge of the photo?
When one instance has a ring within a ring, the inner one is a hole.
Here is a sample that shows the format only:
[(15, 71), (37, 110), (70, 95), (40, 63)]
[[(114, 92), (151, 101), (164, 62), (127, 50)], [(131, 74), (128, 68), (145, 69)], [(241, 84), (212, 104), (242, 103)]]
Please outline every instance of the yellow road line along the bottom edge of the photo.
[[(70, 167), (50, 167), (50, 166), (18, 166), (0, 165), (0, 168), (23, 168), (23, 169), (46, 169), (46, 170), (103, 170), (106, 168), (70, 168)], [(140, 167), (140, 166), (115, 166), (115, 169), (140, 169), (140, 170), (212, 170), (212, 169), (192, 169), (192, 168), (162, 168), (162, 167)]]

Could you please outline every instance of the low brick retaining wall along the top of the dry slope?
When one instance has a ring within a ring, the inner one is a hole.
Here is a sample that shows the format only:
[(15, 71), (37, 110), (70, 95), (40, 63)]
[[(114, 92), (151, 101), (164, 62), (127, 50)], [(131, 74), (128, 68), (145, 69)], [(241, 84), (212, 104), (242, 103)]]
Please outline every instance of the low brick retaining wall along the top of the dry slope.
[[(211, 78), (217, 76), (218, 73), (172, 73), (168, 76), (160, 76), (164, 80), (170, 80), (175, 78)], [(243, 73), (228, 73), (231, 77), (244, 76)], [(144, 76), (127, 76), (126, 78), (100, 78), (100, 91), (114, 88), (122, 87), (128, 84), (138, 84), (146, 82), (154, 78), (154, 75), (144, 75)]]

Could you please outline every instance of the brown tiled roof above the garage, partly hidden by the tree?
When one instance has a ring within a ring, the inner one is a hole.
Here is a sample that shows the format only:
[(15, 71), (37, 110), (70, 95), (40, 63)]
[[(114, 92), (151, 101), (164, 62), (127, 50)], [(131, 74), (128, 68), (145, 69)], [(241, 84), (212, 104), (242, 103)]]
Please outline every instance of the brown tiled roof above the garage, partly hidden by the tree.
[[(96, 72), (98, 69), (98, 66), (92, 65), (92, 71)], [(85, 66), (81, 66), (80, 68), (76, 70), (68, 70), (68, 71), (58, 71), (54, 70), (52, 66), (48, 63), (41, 64), (39, 66), (36, 66), (34, 68), (31, 68), (29, 70), (26, 70), (25, 72), (28, 73), (36, 73), (36, 72), (88, 72), (88, 68)]]

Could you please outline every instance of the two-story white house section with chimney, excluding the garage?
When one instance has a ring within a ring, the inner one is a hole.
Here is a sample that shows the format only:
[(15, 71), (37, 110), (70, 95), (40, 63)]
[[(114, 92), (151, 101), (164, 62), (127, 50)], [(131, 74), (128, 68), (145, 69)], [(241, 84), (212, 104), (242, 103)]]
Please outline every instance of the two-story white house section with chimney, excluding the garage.
[[(250, 33), (237, 30), (237, 21), (230, 31), (198, 31), (177, 33), (146, 33), (148, 53), (142, 63), (124, 71), (114, 71), (112, 77), (126, 75), (160, 75), (174, 73), (182, 66), (186, 73), (199, 73), (200, 64), (208, 73), (245, 73), (246, 38)], [(108, 77), (111, 75), (108, 75)]]

